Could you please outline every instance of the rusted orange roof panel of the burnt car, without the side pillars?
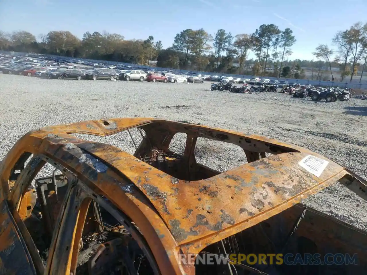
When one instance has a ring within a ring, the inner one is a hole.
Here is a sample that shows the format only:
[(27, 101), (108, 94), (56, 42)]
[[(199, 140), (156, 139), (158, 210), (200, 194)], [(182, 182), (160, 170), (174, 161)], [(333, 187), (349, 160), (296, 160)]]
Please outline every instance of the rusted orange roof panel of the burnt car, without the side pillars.
[[(167, 140), (169, 144), (175, 133), (183, 132), (188, 137), (206, 137), (236, 144), (244, 149), (248, 158), (251, 158), (250, 151), (273, 155), (254, 159), (208, 179), (188, 181), (172, 177), (119, 148), (97, 146), (97, 143), (69, 135), (107, 136), (135, 127), (144, 129), (147, 135), (160, 133), (156, 138), (161, 144), (166, 144)], [(37, 148), (27, 148), (24, 145), (27, 139), (33, 139), (30, 144)], [(47, 151), (55, 143), (60, 143), (63, 150), (79, 147), (108, 167), (113, 167), (145, 194), (181, 249), (186, 247), (191, 253), (266, 220), (339, 179), (354, 186), (361, 196), (365, 196), (366, 190), (366, 182), (352, 172), (305, 148), (257, 135), (154, 118), (117, 118), (51, 126), (31, 131), (19, 142), (23, 143), (24, 151), (32, 152), (39, 148)], [(13, 153), (4, 158), (3, 165), (16, 162), (12, 159)], [(327, 163), (319, 176), (300, 164), (310, 155)], [(0, 199), (6, 198), (9, 190), (7, 175), (1, 173), (2, 169), (0, 166)], [(98, 171), (101, 174), (106, 172), (105, 169)], [(99, 179), (101, 177), (95, 177), (96, 184), (105, 194), (128, 193), (119, 182), (113, 183), (116, 188), (107, 189), (103, 182), (98, 182)], [(157, 234), (160, 234), (158, 229)]]

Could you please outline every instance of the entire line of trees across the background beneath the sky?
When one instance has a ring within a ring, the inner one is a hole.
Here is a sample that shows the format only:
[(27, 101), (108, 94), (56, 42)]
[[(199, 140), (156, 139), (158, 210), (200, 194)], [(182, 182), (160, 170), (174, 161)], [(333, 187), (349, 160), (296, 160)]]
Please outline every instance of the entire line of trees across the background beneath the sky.
[[(366, 67), (367, 23), (357, 22), (338, 31), (329, 45), (319, 45), (312, 54), (316, 60), (289, 60), (296, 39), (290, 28), (280, 30), (274, 24), (261, 25), (254, 33), (233, 35), (219, 29), (214, 35), (204, 29), (185, 29), (176, 34), (171, 47), (164, 49), (153, 36), (146, 40), (125, 40), (116, 33), (86, 32), (79, 39), (69, 31), (51, 31), (38, 37), (26, 31), (0, 31), (0, 50), (52, 54), (151, 65), (157, 67), (257, 76), (305, 78), (302, 68), (312, 68), (312, 79), (326, 71), (334, 78), (339, 67), (342, 80), (350, 80)], [(249, 59), (250, 53), (255, 54)], [(237, 66), (235, 66), (237, 64)], [(251, 66), (250, 66), (251, 65)], [(267, 71), (272, 67), (274, 70)], [(328, 68), (328, 69), (327, 69)]]

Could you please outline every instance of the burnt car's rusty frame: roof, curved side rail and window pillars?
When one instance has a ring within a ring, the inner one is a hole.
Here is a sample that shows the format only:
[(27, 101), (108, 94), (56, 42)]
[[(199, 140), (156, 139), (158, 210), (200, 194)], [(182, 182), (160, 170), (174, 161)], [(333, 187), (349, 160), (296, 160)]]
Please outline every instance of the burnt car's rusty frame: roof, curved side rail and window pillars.
[[(108, 136), (136, 127), (143, 129), (146, 136), (137, 146), (135, 157), (114, 146), (70, 135)], [(169, 152), (171, 139), (178, 132), (188, 136), (182, 161), (187, 169), (184, 173), (189, 177), (197, 166), (193, 154), (197, 137), (240, 146), (248, 164), (224, 173), (207, 169), (209, 177), (203, 180), (182, 180), (139, 159), (153, 147)], [(273, 155), (266, 157), (265, 153)], [(33, 158), (23, 168), (30, 154)], [(298, 166), (307, 155), (329, 162), (320, 177)], [(44, 268), (28, 231), (17, 217), (30, 181), (46, 162), (68, 175), (69, 190)], [(21, 172), (15, 174), (15, 170)], [(24, 135), (0, 165), (0, 203), (6, 201), (20, 224), (19, 231), (39, 274), (75, 272), (78, 240), (88, 206), (92, 200), (104, 203), (99, 199), (104, 196), (113, 208), (108, 204), (103, 207), (115, 213), (122, 224), (128, 227), (130, 218), (134, 217), (143, 236), (138, 243), (151, 255), (157, 272), (191, 275), (195, 274), (194, 266), (179, 265), (177, 253), (197, 254), (204, 247), (258, 224), (338, 180), (366, 199), (365, 180), (302, 147), (202, 125), (122, 118), (57, 125)], [(134, 228), (130, 226), (132, 235), (138, 234)], [(138, 235), (136, 238), (139, 240)], [(4, 249), (0, 244), (0, 255)]]

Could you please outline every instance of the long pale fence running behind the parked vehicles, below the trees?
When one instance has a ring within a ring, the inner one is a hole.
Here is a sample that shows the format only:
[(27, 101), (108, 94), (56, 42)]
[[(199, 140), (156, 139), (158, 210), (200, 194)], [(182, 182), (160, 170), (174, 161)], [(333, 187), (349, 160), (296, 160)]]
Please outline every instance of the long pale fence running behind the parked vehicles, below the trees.
[[(28, 56), (29, 53), (26, 52), (7, 52), (7, 51), (0, 51), (1, 54), (8, 54), (8, 55), (19, 55), (19, 56)], [(58, 56), (58, 55), (43, 55), (43, 56), (53, 56), (56, 58), (68, 58), (65, 56)], [(124, 62), (115, 62), (115, 61), (106, 61), (106, 60), (95, 60), (95, 59), (86, 59), (86, 58), (78, 58), (79, 60), (86, 61), (86, 62), (94, 62), (94, 63), (104, 63), (106, 65), (112, 64), (119, 64), (125, 66), (132, 66), (136, 68), (147, 68), (150, 70), (172, 70), (171, 68), (161, 68), (161, 67), (150, 67), (144, 66), (140, 64), (131, 64), (131, 63), (124, 63)], [(175, 70), (178, 72), (187, 72), (187, 70)], [(206, 74), (206, 75), (215, 75), (216, 73), (208, 73), (208, 72), (196, 72), (196, 74)], [(218, 74), (219, 75), (219, 74)], [(225, 76), (232, 76), (235, 78), (252, 78), (253, 76), (244, 76), (240, 74), (221, 74)], [(270, 80), (286, 80), (288, 83), (299, 83), (301, 85), (314, 85), (314, 86), (329, 86), (329, 87), (341, 87), (341, 88), (352, 88), (352, 89), (367, 89), (367, 83), (357, 83), (357, 82), (338, 82), (338, 81), (318, 81), (318, 80), (306, 80), (306, 79), (295, 79), (295, 78), (277, 78), (277, 77), (266, 77)], [(355, 80), (357, 81), (357, 80)]]

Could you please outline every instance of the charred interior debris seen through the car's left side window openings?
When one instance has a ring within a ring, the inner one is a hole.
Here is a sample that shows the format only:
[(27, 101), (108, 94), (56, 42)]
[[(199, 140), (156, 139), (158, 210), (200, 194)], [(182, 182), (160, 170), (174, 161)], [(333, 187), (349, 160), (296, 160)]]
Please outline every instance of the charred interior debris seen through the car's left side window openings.
[[(18, 161), (18, 169), (24, 169), (26, 156), (29, 154), (22, 155)], [(47, 162), (41, 163), (39, 169), (43, 173), (45, 166), (52, 167)], [(43, 274), (70, 182), (62, 171), (54, 168), (48, 177), (36, 176), (34, 186), (32, 179), (28, 179), (27, 186), (14, 217), (29, 248), (37, 274)], [(105, 198), (102, 199), (112, 205)], [(79, 243), (75, 274), (154, 274), (148, 257), (127, 230), (131, 226), (135, 226), (131, 220), (128, 225), (121, 224), (97, 201), (91, 200)]]

